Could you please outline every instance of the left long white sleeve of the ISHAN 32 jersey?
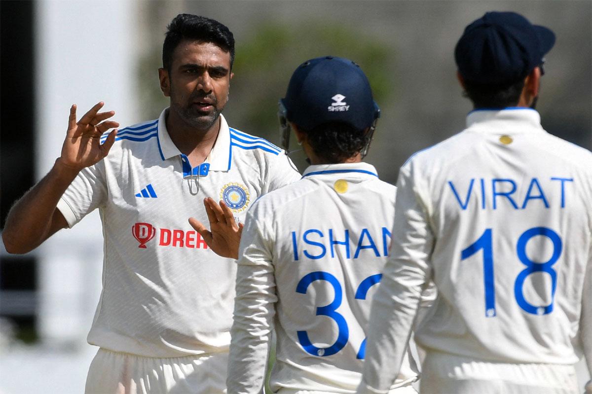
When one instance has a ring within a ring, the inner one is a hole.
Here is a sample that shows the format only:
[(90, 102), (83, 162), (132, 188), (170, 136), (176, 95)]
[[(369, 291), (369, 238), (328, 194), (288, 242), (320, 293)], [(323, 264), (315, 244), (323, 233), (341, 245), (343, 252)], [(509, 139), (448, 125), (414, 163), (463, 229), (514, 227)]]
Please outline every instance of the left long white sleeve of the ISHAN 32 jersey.
[[(261, 393), (265, 384), (269, 341), (274, 330), (275, 277), (271, 234), (263, 235), (264, 218), (257, 203), (247, 212), (243, 236), (240, 240), (234, 323), (230, 335), (229, 393)], [(239, 344), (249, 343), (248, 346)]]

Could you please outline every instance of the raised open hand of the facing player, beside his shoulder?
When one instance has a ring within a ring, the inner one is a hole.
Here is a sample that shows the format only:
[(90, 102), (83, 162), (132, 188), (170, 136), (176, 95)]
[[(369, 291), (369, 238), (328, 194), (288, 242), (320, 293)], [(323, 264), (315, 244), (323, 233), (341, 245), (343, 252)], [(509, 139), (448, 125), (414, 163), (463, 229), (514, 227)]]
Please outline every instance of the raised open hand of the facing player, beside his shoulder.
[(98, 112), (104, 102), (95, 104), (76, 122), (76, 104), (70, 108), (66, 140), (62, 146), (60, 160), (66, 166), (81, 170), (103, 159), (115, 142), (117, 130), (111, 131), (105, 143), (101, 144), (101, 135), (119, 124), (107, 120), (115, 115), (114, 111)]

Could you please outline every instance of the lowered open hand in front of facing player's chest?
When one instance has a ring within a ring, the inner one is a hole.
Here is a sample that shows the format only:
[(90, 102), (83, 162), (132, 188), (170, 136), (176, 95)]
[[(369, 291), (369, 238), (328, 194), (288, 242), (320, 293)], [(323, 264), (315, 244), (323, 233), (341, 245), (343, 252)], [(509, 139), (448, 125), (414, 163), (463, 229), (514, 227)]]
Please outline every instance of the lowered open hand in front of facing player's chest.
[(244, 225), (236, 224), (231, 209), (223, 201), (218, 205), (213, 198), (208, 197), (204, 199), (204, 207), (210, 221), (210, 230), (195, 218), (189, 218), (189, 224), (200, 233), (215, 254), (238, 259), (240, 235)]

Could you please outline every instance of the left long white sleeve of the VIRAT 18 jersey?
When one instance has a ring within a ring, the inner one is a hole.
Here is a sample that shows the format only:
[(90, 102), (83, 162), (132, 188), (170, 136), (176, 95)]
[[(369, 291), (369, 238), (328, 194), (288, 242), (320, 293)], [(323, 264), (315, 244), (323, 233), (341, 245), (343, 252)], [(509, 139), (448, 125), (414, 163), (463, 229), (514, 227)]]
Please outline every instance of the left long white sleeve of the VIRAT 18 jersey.
[[(372, 301), (359, 393), (388, 393), (403, 361), (420, 300), (424, 313), (435, 296), (435, 289), (426, 287), (432, 270), (433, 234), (426, 218), (427, 206), (414, 190), (410, 168), (402, 168), (390, 254)], [(422, 299), (424, 290), (429, 294)]]

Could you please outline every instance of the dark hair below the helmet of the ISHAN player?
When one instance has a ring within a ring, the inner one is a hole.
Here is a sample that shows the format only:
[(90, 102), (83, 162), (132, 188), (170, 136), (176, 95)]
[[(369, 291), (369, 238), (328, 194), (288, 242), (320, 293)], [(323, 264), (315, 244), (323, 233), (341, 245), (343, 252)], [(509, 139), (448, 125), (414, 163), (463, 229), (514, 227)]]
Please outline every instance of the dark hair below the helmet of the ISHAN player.
[(368, 144), (370, 138), (370, 133), (365, 133), (366, 130), (356, 130), (343, 122), (323, 123), (312, 130), (303, 131), (307, 134), (314, 154), (330, 164), (343, 163), (355, 156)]

